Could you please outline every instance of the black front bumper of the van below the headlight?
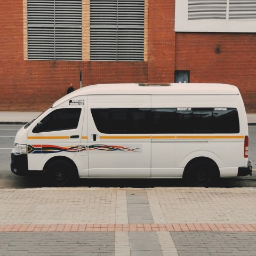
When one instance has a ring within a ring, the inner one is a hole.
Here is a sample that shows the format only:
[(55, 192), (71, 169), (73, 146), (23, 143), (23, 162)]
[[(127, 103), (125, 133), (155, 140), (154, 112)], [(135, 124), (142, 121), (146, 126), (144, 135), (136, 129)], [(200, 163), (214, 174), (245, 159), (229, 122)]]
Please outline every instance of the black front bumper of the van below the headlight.
[(27, 154), (11, 154), (11, 170), (14, 174), (20, 176), (28, 175), (28, 155)]

